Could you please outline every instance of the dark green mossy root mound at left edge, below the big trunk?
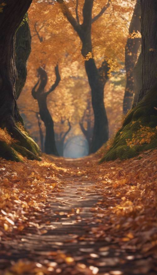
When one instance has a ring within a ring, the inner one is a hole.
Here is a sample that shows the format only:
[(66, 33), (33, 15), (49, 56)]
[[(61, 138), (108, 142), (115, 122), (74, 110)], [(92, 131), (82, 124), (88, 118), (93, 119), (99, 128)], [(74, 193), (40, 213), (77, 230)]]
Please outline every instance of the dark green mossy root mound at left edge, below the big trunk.
[(0, 140), (0, 157), (11, 161), (22, 161), (17, 152), (5, 141)]

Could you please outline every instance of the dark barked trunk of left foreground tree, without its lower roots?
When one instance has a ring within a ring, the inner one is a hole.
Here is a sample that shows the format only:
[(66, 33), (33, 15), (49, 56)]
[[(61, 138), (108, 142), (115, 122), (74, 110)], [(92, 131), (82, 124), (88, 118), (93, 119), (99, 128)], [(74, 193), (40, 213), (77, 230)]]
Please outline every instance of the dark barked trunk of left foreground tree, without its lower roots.
[(16, 123), (21, 120), (15, 95), (15, 31), (31, 2), (8, 0), (0, 16), (0, 127), (7, 127), (15, 136), (20, 133)]

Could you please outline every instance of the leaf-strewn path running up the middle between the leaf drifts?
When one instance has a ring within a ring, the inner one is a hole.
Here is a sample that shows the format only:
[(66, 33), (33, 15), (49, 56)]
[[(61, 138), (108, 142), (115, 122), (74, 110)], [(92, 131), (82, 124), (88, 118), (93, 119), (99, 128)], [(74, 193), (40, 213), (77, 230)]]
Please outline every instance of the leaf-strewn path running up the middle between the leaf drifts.
[(13, 273), (0, 274), (155, 275), (152, 259), (136, 249), (122, 248), (112, 236), (97, 230), (102, 225), (105, 230), (108, 227), (101, 213), (106, 197), (110, 207), (115, 198), (108, 187), (102, 188), (94, 172), (85, 175), (80, 160), (64, 162), (72, 175), (69, 171), (62, 177), (59, 192), (53, 190), (42, 213), (34, 214), (36, 229), (29, 227), (1, 242), (0, 270), (10, 261), (21, 262), (15, 264)]

